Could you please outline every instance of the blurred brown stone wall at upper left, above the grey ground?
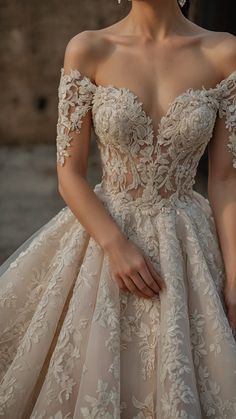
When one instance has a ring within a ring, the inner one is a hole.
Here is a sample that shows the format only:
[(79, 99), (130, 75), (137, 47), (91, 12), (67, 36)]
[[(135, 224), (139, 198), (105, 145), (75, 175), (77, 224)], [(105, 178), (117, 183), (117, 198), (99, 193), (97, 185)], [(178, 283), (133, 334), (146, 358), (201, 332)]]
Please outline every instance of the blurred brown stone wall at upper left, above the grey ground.
[(127, 0), (0, 0), (1, 144), (52, 144), (68, 41), (122, 18)]

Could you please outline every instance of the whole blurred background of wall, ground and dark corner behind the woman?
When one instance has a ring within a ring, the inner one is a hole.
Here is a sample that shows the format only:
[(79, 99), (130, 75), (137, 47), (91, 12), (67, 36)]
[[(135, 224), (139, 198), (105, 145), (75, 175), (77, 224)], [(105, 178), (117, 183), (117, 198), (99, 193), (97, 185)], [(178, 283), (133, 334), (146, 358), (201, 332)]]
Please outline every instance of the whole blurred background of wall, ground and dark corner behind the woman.
[[(57, 89), (64, 50), (83, 30), (124, 17), (122, 0), (0, 0), (0, 263), (65, 206), (57, 191)], [(190, 0), (183, 13), (211, 30), (236, 34), (235, 0)], [(100, 181), (92, 132), (88, 181)], [(195, 189), (206, 195), (207, 151)]]

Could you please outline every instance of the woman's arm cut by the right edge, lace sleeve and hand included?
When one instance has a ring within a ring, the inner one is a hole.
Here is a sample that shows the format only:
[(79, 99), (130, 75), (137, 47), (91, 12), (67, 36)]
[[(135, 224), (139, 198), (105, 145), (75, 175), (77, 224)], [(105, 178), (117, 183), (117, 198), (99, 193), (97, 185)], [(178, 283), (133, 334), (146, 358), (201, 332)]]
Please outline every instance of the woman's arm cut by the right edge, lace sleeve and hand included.
[[(225, 78), (236, 70), (236, 41), (225, 61)], [(217, 227), (226, 271), (224, 297), (228, 319), (236, 328), (236, 75), (228, 79), (208, 146), (208, 198)]]

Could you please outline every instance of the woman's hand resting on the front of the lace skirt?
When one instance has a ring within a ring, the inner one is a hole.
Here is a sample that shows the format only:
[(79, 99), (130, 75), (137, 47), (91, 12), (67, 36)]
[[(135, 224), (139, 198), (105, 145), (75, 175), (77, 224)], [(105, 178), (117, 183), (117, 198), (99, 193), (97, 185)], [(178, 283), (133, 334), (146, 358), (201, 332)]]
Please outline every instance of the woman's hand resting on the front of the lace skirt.
[(120, 236), (106, 246), (111, 272), (120, 289), (139, 297), (158, 297), (165, 281), (149, 258), (131, 241)]

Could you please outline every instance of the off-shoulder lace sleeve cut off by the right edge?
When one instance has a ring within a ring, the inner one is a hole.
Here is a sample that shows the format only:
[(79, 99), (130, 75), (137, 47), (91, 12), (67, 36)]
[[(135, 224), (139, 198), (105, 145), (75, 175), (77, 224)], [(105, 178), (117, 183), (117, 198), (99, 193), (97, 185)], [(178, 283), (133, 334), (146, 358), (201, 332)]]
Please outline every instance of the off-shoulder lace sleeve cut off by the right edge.
[(228, 130), (228, 149), (236, 169), (236, 71), (220, 83), (222, 95), (219, 103), (219, 117), (224, 118)]

